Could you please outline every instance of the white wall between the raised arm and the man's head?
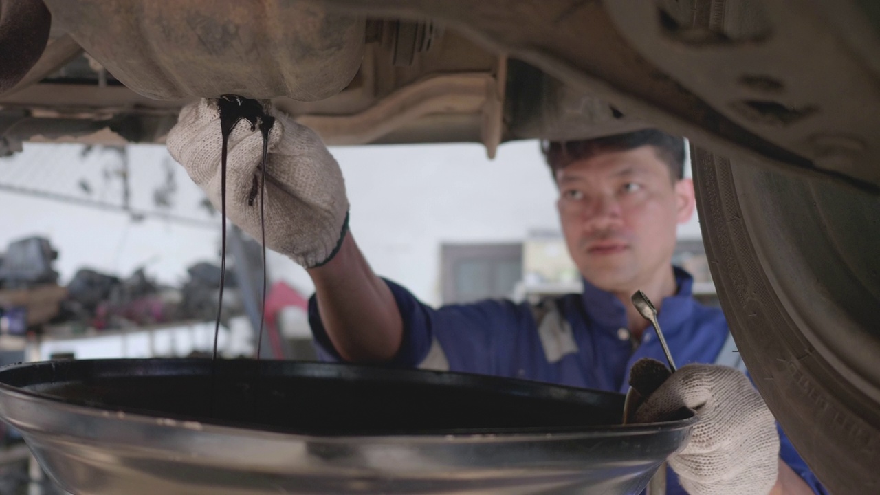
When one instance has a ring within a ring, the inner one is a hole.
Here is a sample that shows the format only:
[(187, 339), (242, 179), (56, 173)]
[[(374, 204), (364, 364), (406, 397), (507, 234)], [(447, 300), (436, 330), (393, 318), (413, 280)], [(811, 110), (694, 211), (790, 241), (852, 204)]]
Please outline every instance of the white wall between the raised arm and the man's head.
[[(504, 144), (495, 160), (478, 144), (334, 148), (346, 178), (351, 230), (378, 274), (440, 301), (443, 242), (520, 241), (558, 228), (555, 190), (536, 142)], [(275, 260), (273, 273), (310, 286)]]

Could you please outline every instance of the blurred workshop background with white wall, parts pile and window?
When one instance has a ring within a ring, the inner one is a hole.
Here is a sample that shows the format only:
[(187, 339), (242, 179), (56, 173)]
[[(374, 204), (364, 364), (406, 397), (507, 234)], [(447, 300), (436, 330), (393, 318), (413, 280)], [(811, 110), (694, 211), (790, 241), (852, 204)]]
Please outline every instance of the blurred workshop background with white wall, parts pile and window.
[[(480, 144), (331, 151), (363, 253), (425, 303), (580, 290), (537, 141), (503, 144), (493, 160)], [(2, 364), (209, 356), (221, 228), (219, 213), (161, 145), (25, 144), (0, 159)], [(229, 233), (218, 351), (253, 357), (261, 252), (231, 225)], [(698, 297), (716, 304), (696, 215), (678, 237), (676, 262), (693, 273)], [(314, 358), (305, 314), (311, 280), (271, 252), (267, 271), (261, 357)], [(0, 493), (16, 493), (29, 479), (20, 463), (27, 452), (15, 432), (3, 438), (0, 469), (10, 475), (0, 477)]]

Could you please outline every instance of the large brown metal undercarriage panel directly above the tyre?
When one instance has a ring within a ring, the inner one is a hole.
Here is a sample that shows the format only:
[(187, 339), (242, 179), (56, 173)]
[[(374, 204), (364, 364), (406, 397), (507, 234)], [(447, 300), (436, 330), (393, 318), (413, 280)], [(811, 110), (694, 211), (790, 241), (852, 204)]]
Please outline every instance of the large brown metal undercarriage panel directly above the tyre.
[(320, 2), (439, 19), (732, 158), (880, 192), (880, 29), (860, 2)]

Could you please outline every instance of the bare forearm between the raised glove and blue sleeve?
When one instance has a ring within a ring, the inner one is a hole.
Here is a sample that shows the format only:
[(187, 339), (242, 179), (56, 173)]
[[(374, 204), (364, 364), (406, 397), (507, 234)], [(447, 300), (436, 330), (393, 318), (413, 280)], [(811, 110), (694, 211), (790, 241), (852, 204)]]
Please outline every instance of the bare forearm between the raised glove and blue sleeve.
[(321, 321), (341, 358), (390, 360), (403, 340), (403, 321), (391, 289), (377, 277), (350, 232), (326, 265), (308, 270)]

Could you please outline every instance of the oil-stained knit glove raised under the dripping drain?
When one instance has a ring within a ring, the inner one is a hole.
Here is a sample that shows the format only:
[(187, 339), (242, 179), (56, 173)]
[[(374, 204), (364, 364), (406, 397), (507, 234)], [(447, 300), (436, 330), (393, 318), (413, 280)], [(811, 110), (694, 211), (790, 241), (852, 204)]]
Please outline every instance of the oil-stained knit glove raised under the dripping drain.
[[(269, 132), (266, 167), (266, 247), (306, 268), (323, 264), (348, 230), (348, 198), (339, 165), (312, 129), (281, 112)], [(168, 151), (220, 210), (222, 137), (216, 100), (202, 99), (180, 111)], [(229, 137), (226, 214), (260, 240), (260, 167), (263, 137), (239, 121)], [(254, 196), (255, 195), (255, 196)]]

